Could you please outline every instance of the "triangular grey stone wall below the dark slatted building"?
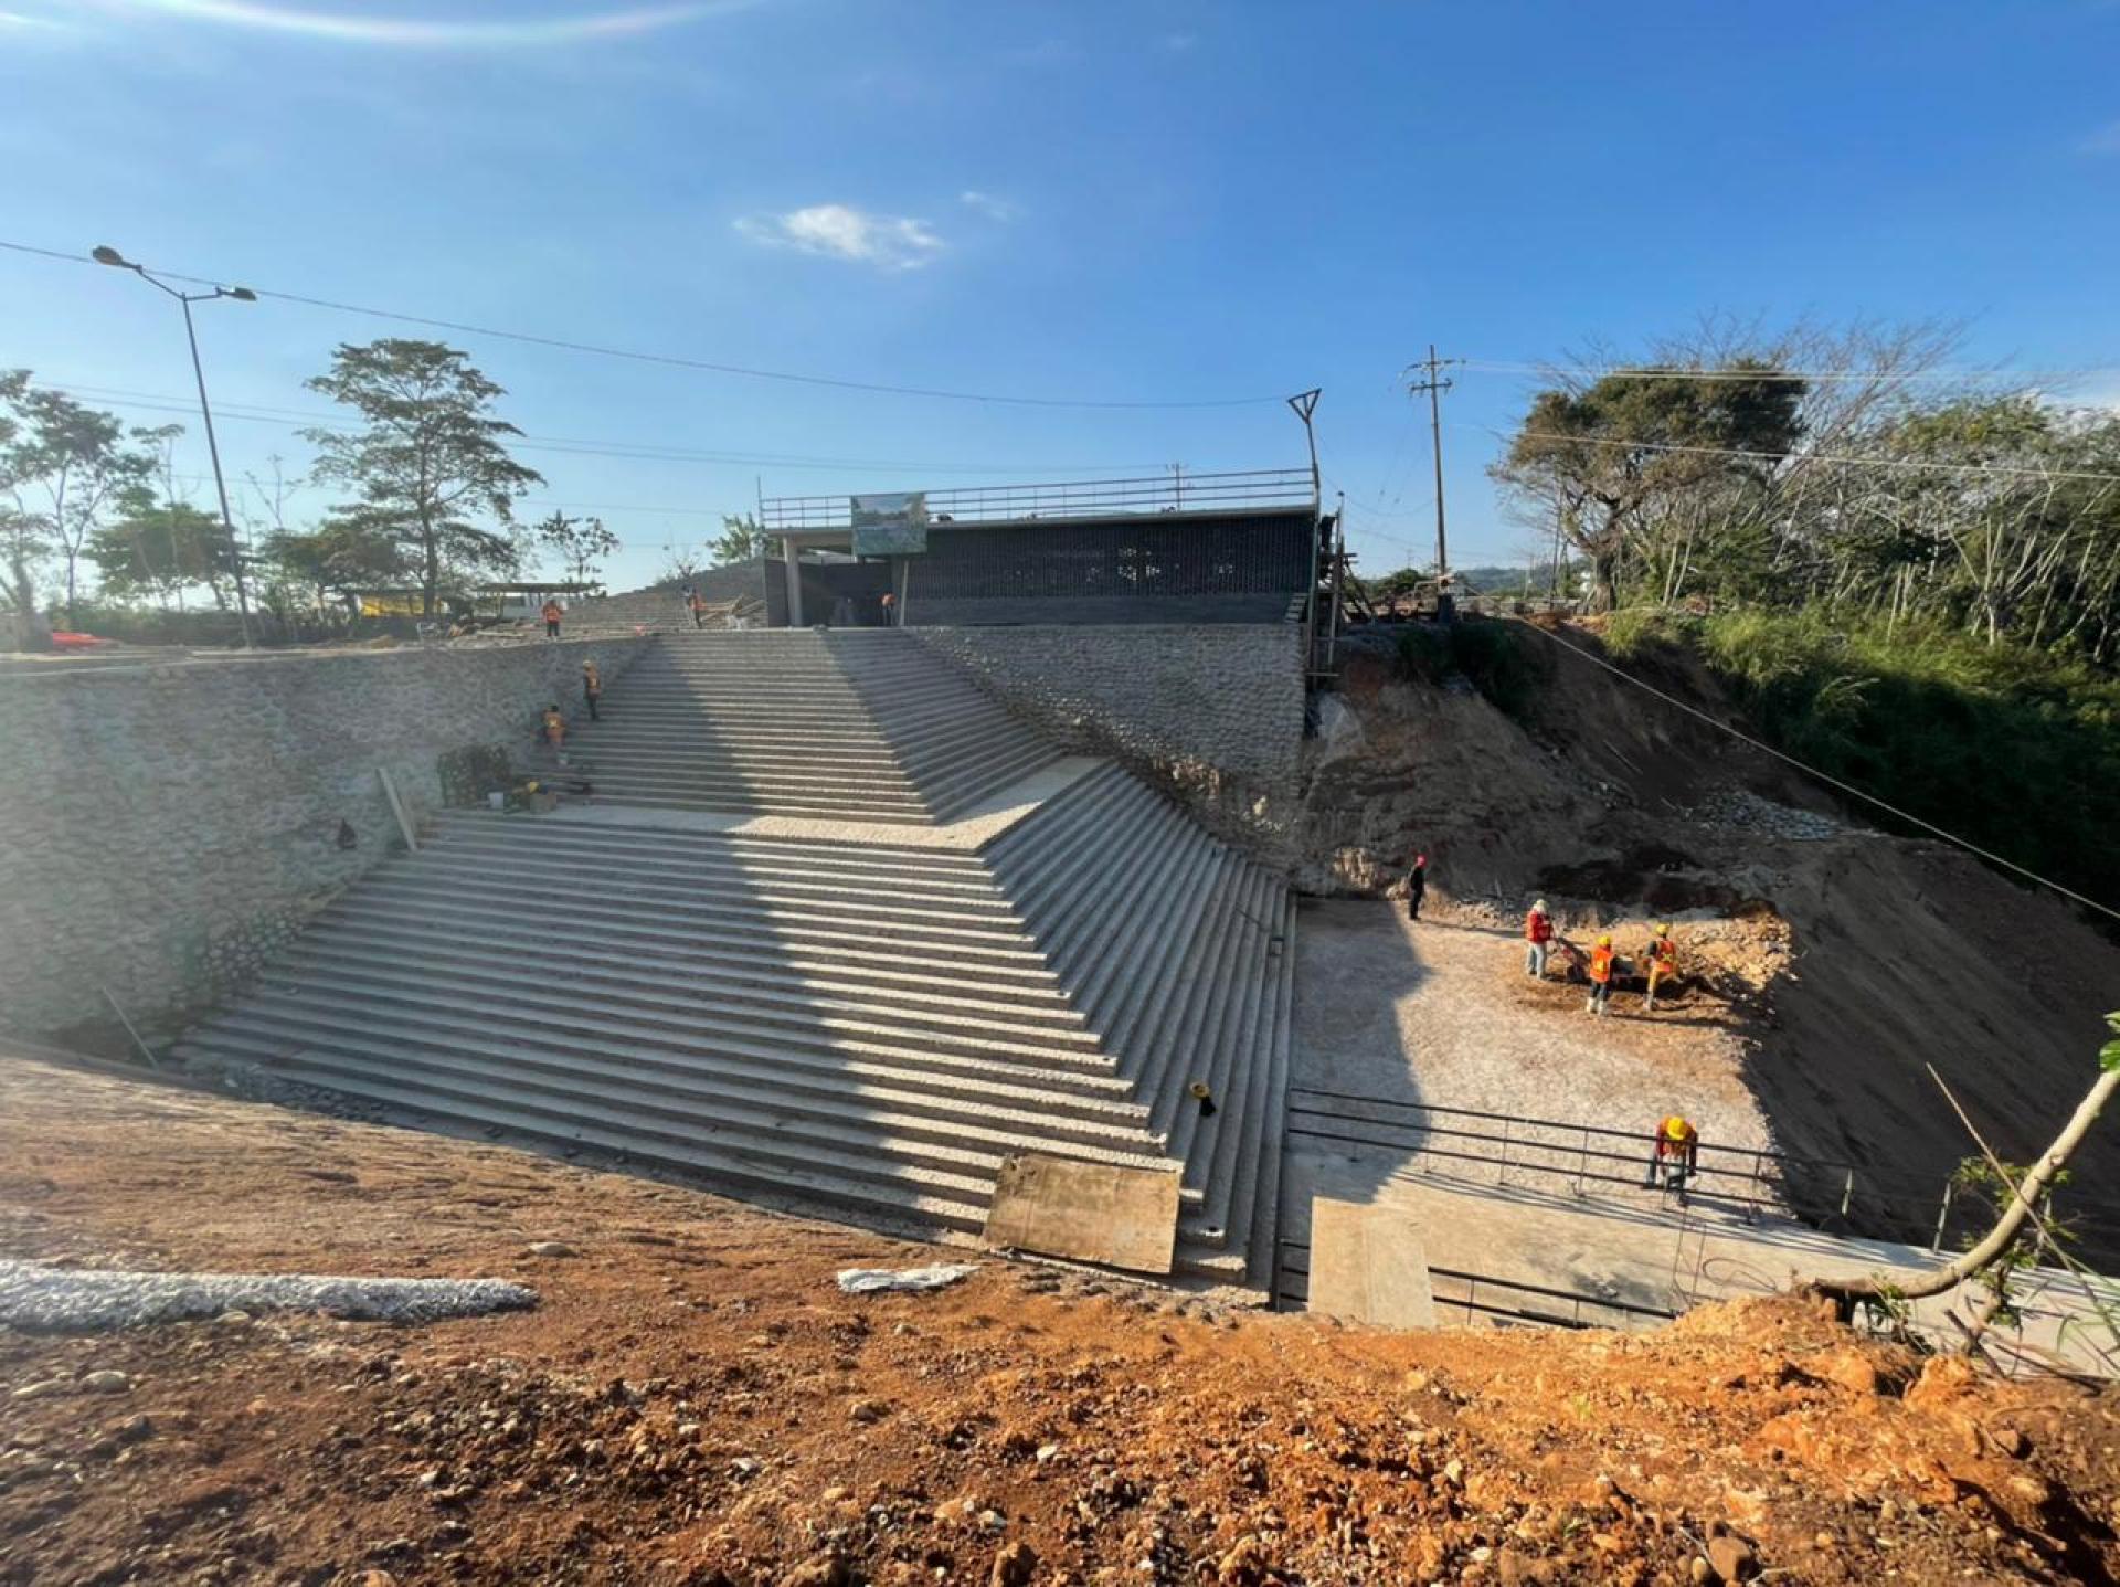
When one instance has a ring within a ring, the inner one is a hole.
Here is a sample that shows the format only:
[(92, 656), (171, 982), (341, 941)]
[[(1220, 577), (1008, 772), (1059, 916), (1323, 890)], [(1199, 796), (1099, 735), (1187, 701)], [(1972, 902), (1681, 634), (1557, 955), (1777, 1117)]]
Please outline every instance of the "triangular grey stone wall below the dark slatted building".
[(1111, 755), (1287, 872), (1302, 800), (1300, 624), (907, 628), (1068, 747)]

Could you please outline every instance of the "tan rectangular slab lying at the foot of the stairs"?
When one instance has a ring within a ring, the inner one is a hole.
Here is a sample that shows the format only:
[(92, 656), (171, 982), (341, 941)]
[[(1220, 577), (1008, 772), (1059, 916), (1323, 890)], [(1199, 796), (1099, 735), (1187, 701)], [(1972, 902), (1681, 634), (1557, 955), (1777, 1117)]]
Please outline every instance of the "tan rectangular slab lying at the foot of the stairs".
[(1041, 1152), (1001, 1163), (986, 1243), (1168, 1273), (1179, 1239), (1179, 1165), (1126, 1169)]

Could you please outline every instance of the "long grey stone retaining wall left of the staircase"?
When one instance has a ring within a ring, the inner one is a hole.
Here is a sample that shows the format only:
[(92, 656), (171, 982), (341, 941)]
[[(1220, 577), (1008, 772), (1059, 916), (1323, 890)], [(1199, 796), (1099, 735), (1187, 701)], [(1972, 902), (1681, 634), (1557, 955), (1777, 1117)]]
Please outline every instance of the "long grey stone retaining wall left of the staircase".
[[(333, 651), (0, 675), (0, 1031), (106, 1044), (240, 987), (441, 804), (441, 755), (532, 749), (651, 641)], [(339, 823), (354, 847), (339, 847)]]

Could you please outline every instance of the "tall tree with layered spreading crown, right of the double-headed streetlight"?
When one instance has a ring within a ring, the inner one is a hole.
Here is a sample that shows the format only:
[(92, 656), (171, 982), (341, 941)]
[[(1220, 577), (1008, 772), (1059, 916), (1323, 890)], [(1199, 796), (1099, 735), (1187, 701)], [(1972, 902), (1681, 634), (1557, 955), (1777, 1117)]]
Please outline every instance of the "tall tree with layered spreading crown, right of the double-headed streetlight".
[[(341, 344), (307, 386), (365, 420), (358, 433), (305, 431), (318, 448), (314, 475), (360, 492), (335, 509), (335, 533), (367, 550), (401, 547), (424, 615), (437, 613), (445, 583), (515, 569), (513, 505), (543, 475), (509, 456), (507, 437), (522, 431), (492, 414), (507, 393), (464, 352), (399, 337)], [(481, 528), (477, 513), (500, 528)]]

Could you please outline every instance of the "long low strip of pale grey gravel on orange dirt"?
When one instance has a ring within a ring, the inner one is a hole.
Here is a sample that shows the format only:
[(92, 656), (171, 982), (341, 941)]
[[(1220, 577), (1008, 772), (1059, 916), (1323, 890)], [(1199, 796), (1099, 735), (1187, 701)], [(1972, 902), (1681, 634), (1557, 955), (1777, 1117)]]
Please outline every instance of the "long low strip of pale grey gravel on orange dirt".
[(307, 1273), (117, 1273), (0, 1260), (0, 1324), (91, 1332), (229, 1311), (322, 1311), (356, 1322), (439, 1322), (536, 1305), (502, 1279), (354, 1279)]

